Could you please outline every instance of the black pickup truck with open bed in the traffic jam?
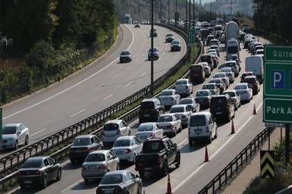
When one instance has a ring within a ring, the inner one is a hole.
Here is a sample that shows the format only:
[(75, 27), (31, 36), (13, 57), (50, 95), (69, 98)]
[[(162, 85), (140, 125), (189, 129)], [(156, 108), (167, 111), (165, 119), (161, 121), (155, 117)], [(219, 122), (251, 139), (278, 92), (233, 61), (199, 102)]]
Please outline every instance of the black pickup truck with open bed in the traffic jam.
[(168, 174), (168, 167), (175, 164), (179, 168), (181, 164), (181, 153), (179, 146), (172, 143), (167, 136), (161, 138), (148, 138), (143, 143), (143, 150), (135, 159), (135, 170), (140, 177), (145, 172), (157, 172), (163, 177)]

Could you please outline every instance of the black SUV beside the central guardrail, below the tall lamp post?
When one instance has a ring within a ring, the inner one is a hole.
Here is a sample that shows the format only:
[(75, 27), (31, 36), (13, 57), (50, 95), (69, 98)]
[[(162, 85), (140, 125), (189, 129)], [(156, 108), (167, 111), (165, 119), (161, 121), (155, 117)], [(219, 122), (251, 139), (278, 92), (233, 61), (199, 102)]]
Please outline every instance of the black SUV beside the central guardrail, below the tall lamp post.
[(139, 123), (145, 121), (156, 122), (161, 114), (164, 114), (165, 107), (158, 98), (146, 98), (140, 104)]

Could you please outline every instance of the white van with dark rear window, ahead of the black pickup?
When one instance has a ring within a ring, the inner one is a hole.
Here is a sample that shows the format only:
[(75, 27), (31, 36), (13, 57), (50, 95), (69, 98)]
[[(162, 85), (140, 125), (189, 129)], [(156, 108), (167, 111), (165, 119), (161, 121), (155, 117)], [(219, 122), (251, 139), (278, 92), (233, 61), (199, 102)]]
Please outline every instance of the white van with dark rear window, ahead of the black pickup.
[(188, 118), (188, 144), (193, 141), (206, 140), (211, 143), (217, 138), (217, 124), (210, 112), (195, 112)]

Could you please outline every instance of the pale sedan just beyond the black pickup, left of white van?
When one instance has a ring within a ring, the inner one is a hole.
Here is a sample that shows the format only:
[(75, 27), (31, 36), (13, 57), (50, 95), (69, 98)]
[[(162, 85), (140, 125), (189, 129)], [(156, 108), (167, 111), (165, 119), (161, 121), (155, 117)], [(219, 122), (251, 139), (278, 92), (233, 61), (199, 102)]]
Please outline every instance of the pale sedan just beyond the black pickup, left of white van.
[(157, 121), (159, 126), (163, 128), (164, 134), (177, 135), (181, 132), (181, 119), (176, 114), (162, 114)]

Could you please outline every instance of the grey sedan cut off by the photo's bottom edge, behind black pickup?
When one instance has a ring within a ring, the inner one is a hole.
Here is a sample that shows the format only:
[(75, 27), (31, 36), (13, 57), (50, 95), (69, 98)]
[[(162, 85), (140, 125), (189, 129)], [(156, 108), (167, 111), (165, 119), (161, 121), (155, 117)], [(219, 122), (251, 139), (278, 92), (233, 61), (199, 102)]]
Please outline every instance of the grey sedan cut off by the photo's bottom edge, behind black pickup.
[(142, 180), (129, 170), (108, 172), (97, 186), (96, 194), (104, 193), (142, 193)]

